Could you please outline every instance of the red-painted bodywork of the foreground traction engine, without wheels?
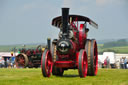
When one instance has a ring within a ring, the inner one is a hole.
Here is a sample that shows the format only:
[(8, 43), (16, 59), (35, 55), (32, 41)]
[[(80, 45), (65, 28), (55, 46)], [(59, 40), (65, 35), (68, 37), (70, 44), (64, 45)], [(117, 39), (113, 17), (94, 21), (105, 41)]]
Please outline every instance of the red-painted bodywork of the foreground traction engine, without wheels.
[[(57, 52), (57, 56), (59, 57), (59, 60), (54, 62), (55, 66), (57, 67), (76, 68), (78, 66), (78, 53), (80, 49), (84, 49), (85, 47), (86, 33), (85, 33), (84, 24), (80, 24), (80, 27), (78, 27), (79, 25), (76, 18), (75, 21), (71, 23), (71, 26), (74, 28), (73, 33), (74, 33), (74, 37), (77, 40), (76, 41), (70, 40), (70, 42), (72, 43), (72, 49), (70, 49), (67, 55), (61, 55), (59, 54), (59, 52)], [(76, 30), (77, 32), (79, 32), (79, 35), (77, 34)]]

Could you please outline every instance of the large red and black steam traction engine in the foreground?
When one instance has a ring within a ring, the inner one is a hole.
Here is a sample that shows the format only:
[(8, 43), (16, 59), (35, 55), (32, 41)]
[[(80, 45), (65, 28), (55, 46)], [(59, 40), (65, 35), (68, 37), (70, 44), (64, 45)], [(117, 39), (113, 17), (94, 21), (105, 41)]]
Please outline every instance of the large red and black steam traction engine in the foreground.
[(80, 77), (94, 76), (98, 70), (98, 52), (95, 39), (87, 39), (87, 23), (95, 28), (98, 25), (80, 15), (69, 15), (69, 8), (62, 8), (62, 16), (52, 20), (52, 25), (60, 28), (59, 39), (52, 41), (50, 49), (45, 49), (41, 58), (44, 77), (51, 73), (62, 76), (64, 70), (78, 69)]

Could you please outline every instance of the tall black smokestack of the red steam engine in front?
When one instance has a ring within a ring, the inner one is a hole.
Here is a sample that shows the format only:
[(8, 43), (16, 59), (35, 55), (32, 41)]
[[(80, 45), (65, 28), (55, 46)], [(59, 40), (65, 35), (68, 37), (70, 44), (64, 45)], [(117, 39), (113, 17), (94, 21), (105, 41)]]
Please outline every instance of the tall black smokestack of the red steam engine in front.
[(68, 35), (69, 8), (62, 8), (62, 32)]

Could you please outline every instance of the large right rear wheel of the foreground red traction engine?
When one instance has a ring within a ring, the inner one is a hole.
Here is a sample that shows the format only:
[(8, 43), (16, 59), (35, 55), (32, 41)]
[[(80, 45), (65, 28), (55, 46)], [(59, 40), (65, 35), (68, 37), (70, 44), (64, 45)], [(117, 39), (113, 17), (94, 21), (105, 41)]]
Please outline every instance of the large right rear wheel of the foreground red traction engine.
[(88, 75), (97, 75), (98, 71), (98, 51), (96, 40), (87, 40), (85, 50), (88, 57)]

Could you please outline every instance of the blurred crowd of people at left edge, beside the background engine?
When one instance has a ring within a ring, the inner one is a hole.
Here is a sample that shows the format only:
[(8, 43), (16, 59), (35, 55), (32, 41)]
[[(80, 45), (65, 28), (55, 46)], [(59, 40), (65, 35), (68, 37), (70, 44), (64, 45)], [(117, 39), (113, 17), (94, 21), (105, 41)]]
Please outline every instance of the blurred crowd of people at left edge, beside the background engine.
[(0, 68), (14, 68), (14, 64), (15, 62), (11, 58), (6, 60), (4, 58), (0, 59)]

